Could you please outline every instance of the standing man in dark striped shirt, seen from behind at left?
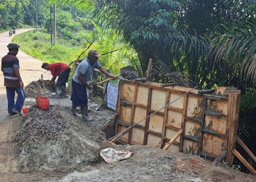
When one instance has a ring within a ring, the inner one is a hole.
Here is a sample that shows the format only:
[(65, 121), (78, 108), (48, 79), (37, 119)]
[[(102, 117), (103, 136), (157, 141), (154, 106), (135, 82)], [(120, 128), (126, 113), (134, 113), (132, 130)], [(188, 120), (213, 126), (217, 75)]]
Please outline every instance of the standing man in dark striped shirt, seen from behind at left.
[[(4, 86), (8, 100), (8, 113), (10, 115), (20, 114), (25, 101), (25, 91), (23, 82), (19, 74), (19, 60), (16, 57), (19, 46), (16, 43), (8, 44), (9, 52), (2, 58), (1, 70), (4, 74)], [(18, 94), (16, 103), (15, 92)]]

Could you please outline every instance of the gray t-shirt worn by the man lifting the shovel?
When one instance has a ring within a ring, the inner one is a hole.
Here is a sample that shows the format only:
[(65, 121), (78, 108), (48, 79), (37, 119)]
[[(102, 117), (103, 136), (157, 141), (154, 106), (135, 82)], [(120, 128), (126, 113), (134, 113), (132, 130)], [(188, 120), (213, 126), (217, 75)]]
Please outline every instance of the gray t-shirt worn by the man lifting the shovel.
[[(85, 81), (89, 81), (91, 79), (91, 75), (93, 74), (93, 69), (94, 68), (100, 68), (101, 64), (99, 63), (99, 61), (91, 64), (89, 59), (86, 57), (78, 66), (78, 68), (76, 69), (76, 72), (74, 74), (74, 76), (72, 77), (72, 79), (76, 82), (79, 83), (79, 79), (78, 79), (78, 74), (79, 72), (83, 75), (83, 78)], [(83, 85), (83, 83), (79, 83), (81, 85)]]

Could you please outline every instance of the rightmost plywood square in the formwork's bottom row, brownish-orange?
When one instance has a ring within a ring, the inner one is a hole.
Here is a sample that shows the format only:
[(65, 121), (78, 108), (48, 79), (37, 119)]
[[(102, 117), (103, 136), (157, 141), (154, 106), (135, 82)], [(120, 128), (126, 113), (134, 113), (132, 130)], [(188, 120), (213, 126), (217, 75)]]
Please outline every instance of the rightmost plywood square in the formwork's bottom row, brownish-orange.
[(222, 150), (225, 150), (225, 138), (203, 133), (202, 151), (204, 153), (218, 157)]

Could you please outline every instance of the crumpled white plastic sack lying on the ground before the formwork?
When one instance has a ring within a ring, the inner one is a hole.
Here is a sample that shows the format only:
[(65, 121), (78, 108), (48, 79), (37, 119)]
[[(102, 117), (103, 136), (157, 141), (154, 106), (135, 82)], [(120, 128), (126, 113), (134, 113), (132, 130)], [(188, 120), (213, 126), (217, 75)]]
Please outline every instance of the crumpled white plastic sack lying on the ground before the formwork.
[(131, 155), (132, 155), (132, 152), (116, 151), (112, 148), (101, 150), (101, 157), (103, 157), (103, 159), (108, 164), (113, 162), (118, 162), (120, 160), (128, 159), (129, 157), (131, 157)]

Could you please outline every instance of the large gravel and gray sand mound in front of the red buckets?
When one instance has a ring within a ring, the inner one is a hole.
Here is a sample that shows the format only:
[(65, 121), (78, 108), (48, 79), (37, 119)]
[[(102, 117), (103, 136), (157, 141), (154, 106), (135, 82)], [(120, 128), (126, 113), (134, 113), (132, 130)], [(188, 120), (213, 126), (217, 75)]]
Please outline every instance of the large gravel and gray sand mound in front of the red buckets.
[(21, 153), (20, 171), (70, 172), (98, 161), (99, 147), (105, 141), (103, 132), (76, 118), (59, 106), (48, 110), (30, 107), (16, 120), (21, 125), (15, 141)]

